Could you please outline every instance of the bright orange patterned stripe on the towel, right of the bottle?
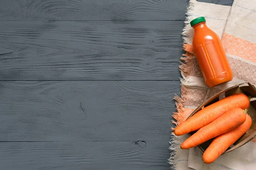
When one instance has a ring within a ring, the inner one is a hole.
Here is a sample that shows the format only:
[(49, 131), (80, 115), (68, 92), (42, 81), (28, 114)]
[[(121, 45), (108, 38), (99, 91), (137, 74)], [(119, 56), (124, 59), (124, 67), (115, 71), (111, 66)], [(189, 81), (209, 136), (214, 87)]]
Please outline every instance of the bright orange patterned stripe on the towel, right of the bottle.
[(256, 44), (224, 33), (222, 37), (224, 51), (233, 56), (241, 57), (256, 63)]

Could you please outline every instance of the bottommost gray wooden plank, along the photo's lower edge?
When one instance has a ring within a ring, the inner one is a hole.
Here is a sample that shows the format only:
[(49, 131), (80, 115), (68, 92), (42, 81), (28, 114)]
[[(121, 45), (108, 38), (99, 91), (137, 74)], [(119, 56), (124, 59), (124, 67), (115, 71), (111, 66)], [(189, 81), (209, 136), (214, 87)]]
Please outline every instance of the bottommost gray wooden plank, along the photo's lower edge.
[(169, 170), (168, 147), (150, 141), (1, 142), (0, 169)]

